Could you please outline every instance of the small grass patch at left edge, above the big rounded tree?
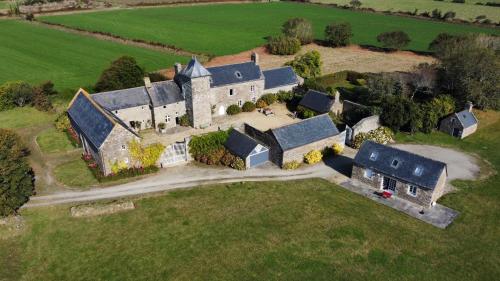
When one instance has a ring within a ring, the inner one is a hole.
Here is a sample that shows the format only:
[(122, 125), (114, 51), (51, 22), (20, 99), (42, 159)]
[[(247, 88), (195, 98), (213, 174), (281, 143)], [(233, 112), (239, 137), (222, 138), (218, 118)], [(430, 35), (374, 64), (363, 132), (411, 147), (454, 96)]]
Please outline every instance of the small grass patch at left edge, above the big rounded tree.
[[(0, 63), (0, 68), (1, 68)], [(0, 74), (1, 75), (1, 74)], [(56, 114), (38, 111), (33, 107), (21, 107), (0, 111), (0, 128), (21, 129), (50, 123)]]

